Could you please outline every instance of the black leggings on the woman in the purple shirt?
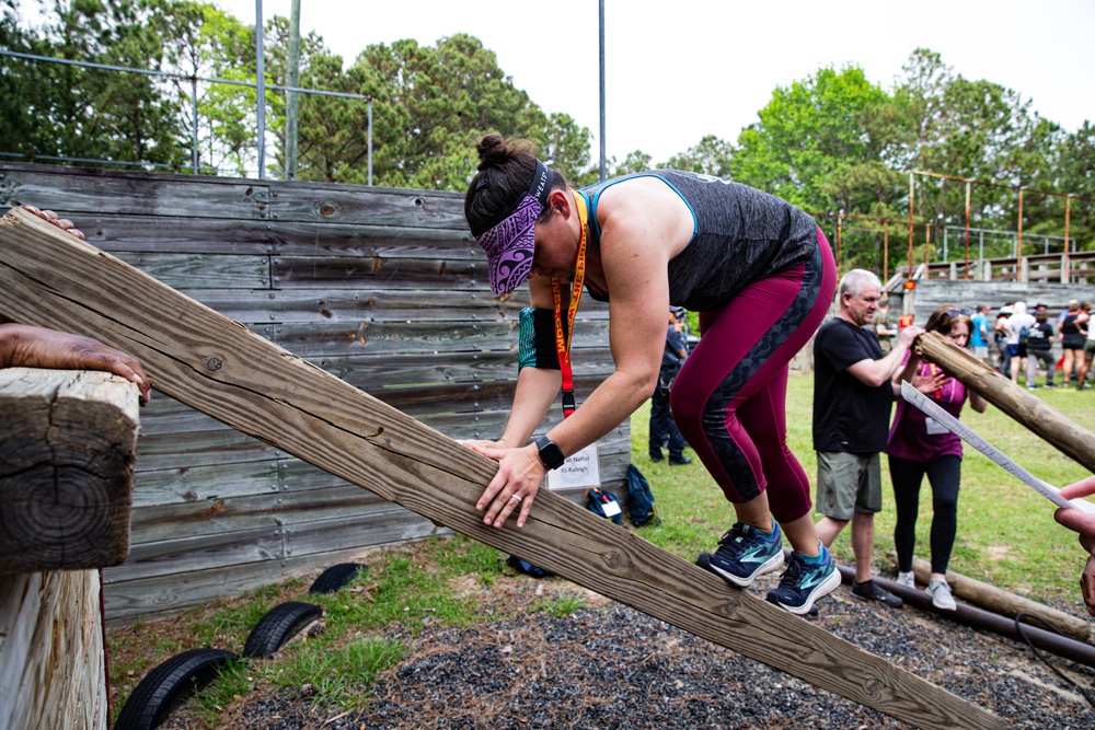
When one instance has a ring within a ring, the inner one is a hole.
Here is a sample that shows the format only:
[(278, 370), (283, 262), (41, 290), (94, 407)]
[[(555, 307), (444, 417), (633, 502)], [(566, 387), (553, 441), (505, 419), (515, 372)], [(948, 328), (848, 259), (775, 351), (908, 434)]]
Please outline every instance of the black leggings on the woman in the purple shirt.
[(961, 482), (961, 459), (940, 456), (930, 462), (914, 462), (899, 456), (889, 457), (894, 482), (894, 503), (897, 524), (894, 544), (897, 547), (898, 570), (912, 570), (912, 553), (917, 545), (917, 517), (920, 512), (920, 485), (927, 475), (932, 485), (932, 572), (946, 575), (958, 532), (958, 485)]

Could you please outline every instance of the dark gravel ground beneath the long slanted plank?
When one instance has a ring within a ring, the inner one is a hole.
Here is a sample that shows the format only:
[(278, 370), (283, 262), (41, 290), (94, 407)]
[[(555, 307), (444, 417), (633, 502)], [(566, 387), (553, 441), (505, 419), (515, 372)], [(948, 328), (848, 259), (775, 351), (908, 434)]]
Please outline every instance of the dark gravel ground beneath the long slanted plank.
[[(774, 584), (774, 581), (773, 581)], [(770, 588), (759, 584), (763, 594)], [(586, 607), (562, 616), (515, 611), (564, 592)], [(484, 612), (507, 616), (468, 629), (402, 634), (407, 652), (366, 707), (316, 705), (308, 687), (255, 693), (223, 728), (899, 728), (903, 723), (560, 579), (495, 583)], [(492, 605), (493, 602), (493, 605)], [(505, 606), (500, 603), (506, 602)], [(820, 604), (818, 625), (960, 697), (1014, 728), (1095, 728), (1095, 708), (1024, 645), (906, 606), (852, 599)], [(517, 614), (517, 618), (512, 616)], [(391, 629), (401, 634), (399, 627)], [(1095, 671), (1048, 656), (1088, 688)], [(185, 709), (164, 728), (201, 727)]]

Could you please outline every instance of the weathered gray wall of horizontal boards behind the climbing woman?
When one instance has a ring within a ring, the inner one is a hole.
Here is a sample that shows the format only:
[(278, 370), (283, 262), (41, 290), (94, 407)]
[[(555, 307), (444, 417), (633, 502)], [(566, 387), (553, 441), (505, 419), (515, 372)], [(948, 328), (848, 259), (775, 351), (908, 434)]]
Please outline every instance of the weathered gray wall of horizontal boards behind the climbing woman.
[[(461, 195), (0, 163), (0, 206), (23, 204), (56, 210), (95, 246), (449, 437), (502, 432), (527, 297), (491, 293)], [(584, 298), (579, 398), (611, 369), (607, 321)], [(436, 531), (162, 395), (141, 429), (130, 555), (104, 571), (111, 621)], [(601, 480), (619, 493), (629, 426), (599, 452)]]

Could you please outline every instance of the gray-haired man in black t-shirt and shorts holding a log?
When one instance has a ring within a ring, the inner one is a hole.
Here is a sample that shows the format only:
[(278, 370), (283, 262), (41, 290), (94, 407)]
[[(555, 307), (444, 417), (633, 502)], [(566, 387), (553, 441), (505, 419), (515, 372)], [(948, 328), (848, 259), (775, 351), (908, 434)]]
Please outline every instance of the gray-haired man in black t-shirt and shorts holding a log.
[(849, 522), (855, 554), (852, 595), (898, 607), (901, 599), (871, 577), (875, 512), (881, 510), (881, 466), (894, 385), (913, 340), (906, 327), (884, 355), (869, 325), (881, 294), (878, 277), (853, 269), (840, 280), (837, 316), (814, 338), (814, 449), (818, 456), (818, 537), (828, 547)]

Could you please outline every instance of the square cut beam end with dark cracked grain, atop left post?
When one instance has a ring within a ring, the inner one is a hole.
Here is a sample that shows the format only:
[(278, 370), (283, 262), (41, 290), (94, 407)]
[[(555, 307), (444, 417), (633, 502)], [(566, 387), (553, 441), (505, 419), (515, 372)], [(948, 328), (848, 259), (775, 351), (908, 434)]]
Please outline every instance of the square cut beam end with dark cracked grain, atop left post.
[(126, 559), (138, 397), (105, 372), (0, 370), (0, 575)]

